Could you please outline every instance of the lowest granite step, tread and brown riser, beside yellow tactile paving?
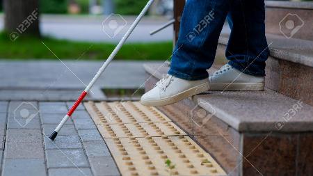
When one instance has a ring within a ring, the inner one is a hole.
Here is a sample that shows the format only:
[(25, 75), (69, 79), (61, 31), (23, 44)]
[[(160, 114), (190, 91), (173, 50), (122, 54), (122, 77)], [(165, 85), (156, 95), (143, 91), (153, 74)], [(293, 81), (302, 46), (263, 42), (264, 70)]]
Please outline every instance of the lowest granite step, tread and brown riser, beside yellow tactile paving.
[[(168, 71), (144, 67), (150, 77), (146, 90)], [(209, 91), (158, 109), (213, 155), (227, 175), (312, 175), (313, 107), (304, 102), (269, 89)]]

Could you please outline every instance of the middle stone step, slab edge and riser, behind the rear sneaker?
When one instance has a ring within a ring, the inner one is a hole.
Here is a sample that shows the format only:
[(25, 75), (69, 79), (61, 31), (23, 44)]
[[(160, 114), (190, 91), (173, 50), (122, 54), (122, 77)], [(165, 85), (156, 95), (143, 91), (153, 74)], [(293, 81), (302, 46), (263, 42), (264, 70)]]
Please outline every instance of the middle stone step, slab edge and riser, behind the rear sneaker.
[[(229, 35), (220, 35), (216, 58), (225, 58)], [(313, 105), (313, 41), (267, 35), (266, 88)]]

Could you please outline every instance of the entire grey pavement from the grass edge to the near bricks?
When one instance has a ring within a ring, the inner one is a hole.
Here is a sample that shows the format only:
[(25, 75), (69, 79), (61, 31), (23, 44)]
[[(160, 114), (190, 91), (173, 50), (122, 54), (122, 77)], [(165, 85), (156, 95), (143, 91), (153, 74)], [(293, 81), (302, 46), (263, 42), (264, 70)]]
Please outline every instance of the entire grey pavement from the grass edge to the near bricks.
[[(0, 61), (1, 175), (120, 175), (82, 105), (56, 140), (49, 140), (51, 131), (74, 103), (69, 101), (77, 98), (102, 62), (65, 61), (64, 64)], [(143, 85), (146, 78), (142, 65), (143, 62), (113, 62), (95, 85), (98, 93), (100, 88)]]

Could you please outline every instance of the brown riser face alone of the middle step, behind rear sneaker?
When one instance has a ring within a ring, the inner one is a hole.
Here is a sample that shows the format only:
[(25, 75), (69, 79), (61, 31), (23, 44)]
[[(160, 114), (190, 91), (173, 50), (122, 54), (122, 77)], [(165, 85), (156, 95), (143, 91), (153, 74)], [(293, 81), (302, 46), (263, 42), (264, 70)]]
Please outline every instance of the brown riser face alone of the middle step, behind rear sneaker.
[[(225, 49), (225, 45), (218, 44), (216, 58), (225, 58)], [(270, 56), (265, 71), (266, 88), (313, 105), (313, 67)]]

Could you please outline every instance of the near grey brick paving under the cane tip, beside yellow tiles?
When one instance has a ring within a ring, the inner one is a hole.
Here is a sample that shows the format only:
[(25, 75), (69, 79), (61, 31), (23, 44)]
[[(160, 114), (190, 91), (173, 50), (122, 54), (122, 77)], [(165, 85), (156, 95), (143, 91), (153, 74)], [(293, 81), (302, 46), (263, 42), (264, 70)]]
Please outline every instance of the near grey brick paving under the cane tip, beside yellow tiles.
[(0, 102), (2, 175), (120, 175), (83, 106), (48, 138), (73, 103)]

